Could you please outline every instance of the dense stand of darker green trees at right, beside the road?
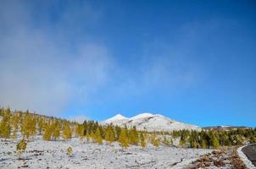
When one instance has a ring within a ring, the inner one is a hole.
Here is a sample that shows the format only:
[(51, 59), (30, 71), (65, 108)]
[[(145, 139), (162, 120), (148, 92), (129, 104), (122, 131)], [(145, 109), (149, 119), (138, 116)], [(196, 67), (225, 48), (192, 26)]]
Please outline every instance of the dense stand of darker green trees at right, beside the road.
[(237, 128), (228, 131), (180, 130), (171, 133), (173, 138), (180, 138), (181, 147), (219, 149), (220, 146), (242, 145), (256, 143), (256, 128)]

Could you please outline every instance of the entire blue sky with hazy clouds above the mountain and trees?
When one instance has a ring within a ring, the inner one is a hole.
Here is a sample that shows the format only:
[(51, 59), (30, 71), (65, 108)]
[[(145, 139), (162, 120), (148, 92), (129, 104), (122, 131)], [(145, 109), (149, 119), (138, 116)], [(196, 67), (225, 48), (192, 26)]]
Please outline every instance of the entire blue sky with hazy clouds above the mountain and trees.
[(255, 1), (0, 2), (0, 105), (256, 124)]

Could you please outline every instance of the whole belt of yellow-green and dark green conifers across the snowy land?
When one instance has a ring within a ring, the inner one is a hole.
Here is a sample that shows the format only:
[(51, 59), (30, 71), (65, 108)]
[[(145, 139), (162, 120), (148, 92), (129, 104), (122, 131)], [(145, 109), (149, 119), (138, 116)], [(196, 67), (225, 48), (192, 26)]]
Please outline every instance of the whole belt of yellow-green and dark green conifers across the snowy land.
[(158, 147), (159, 144), (173, 145), (175, 140), (178, 146), (184, 148), (219, 149), (220, 146), (240, 145), (245, 143), (256, 143), (256, 128), (233, 129), (231, 131), (189, 131), (181, 130), (171, 133), (147, 133), (137, 131), (136, 128), (120, 128), (113, 125), (101, 125), (94, 121), (85, 121), (82, 124), (70, 122), (66, 119), (56, 117), (45, 117), (29, 111), (11, 112), (9, 108), (0, 109), (0, 137), (3, 139), (31, 140), (36, 135), (42, 135), (42, 139), (69, 140), (79, 137), (81, 141), (108, 144), (118, 141), (123, 148), (129, 145), (141, 145), (146, 147), (147, 143)]

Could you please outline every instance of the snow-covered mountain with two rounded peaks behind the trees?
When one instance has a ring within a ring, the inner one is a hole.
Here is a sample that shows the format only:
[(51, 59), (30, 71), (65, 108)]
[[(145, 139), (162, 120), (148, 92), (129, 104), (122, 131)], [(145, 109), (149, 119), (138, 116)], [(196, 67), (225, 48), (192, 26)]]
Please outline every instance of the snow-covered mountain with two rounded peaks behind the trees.
[(201, 128), (181, 122), (176, 122), (169, 117), (164, 117), (160, 114), (142, 113), (135, 117), (124, 117), (120, 114), (115, 115), (104, 121), (103, 123), (114, 124), (121, 127), (125, 125), (128, 128), (136, 126), (138, 130), (147, 130), (148, 132), (159, 131), (159, 132), (170, 132), (174, 130), (189, 129), (189, 130), (200, 130)]

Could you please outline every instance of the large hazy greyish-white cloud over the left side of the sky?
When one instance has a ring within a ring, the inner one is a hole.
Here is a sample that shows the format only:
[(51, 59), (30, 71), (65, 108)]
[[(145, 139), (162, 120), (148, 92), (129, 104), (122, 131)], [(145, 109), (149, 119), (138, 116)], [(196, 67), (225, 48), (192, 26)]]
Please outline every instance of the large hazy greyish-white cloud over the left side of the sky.
[(105, 46), (80, 40), (72, 46), (63, 42), (70, 38), (65, 30), (60, 41), (47, 29), (34, 28), (29, 8), (21, 3), (0, 10), (1, 106), (56, 114), (75, 97), (89, 100), (106, 83), (112, 59)]

